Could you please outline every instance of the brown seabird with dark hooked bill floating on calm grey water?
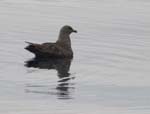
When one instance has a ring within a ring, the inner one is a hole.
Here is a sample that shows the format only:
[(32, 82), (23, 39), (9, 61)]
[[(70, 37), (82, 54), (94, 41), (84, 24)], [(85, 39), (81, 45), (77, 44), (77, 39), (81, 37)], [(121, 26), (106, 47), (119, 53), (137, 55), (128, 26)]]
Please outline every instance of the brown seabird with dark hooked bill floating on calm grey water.
[(60, 29), (56, 42), (42, 44), (27, 42), (26, 50), (35, 54), (36, 58), (73, 58), (70, 34), (77, 33), (71, 26), (65, 25)]

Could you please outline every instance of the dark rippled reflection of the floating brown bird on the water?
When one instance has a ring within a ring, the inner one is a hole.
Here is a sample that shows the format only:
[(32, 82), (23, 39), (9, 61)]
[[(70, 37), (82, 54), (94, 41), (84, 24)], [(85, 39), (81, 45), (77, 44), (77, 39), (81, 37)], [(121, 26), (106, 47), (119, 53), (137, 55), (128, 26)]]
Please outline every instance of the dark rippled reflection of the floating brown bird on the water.
[[(39, 69), (54, 69), (57, 71), (57, 75), (59, 77), (58, 84), (56, 87), (57, 93), (59, 99), (70, 99), (72, 98), (70, 96), (71, 91), (74, 89), (72, 87), (71, 83), (69, 83), (69, 80), (74, 79), (74, 77), (70, 76), (69, 69), (71, 66), (72, 59), (56, 59), (56, 58), (33, 58), (29, 61), (26, 61), (25, 66), (26, 67), (34, 67)], [(40, 91), (30, 91), (28, 92), (32, 93), (41, 93)], [(51, 93), (51, 92), (47, 92)]]

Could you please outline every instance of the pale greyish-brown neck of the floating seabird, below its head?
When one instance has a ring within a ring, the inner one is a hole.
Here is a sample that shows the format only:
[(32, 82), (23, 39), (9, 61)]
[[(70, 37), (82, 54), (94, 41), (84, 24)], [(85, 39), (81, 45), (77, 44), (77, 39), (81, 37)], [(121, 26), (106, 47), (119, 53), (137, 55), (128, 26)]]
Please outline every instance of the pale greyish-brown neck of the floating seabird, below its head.
[(63, 48), (71, 49), (71, 40), (70, 40), (70, 36), (68, 34), (60, 33), (56, 43), (58, 45), (62, 46)]

